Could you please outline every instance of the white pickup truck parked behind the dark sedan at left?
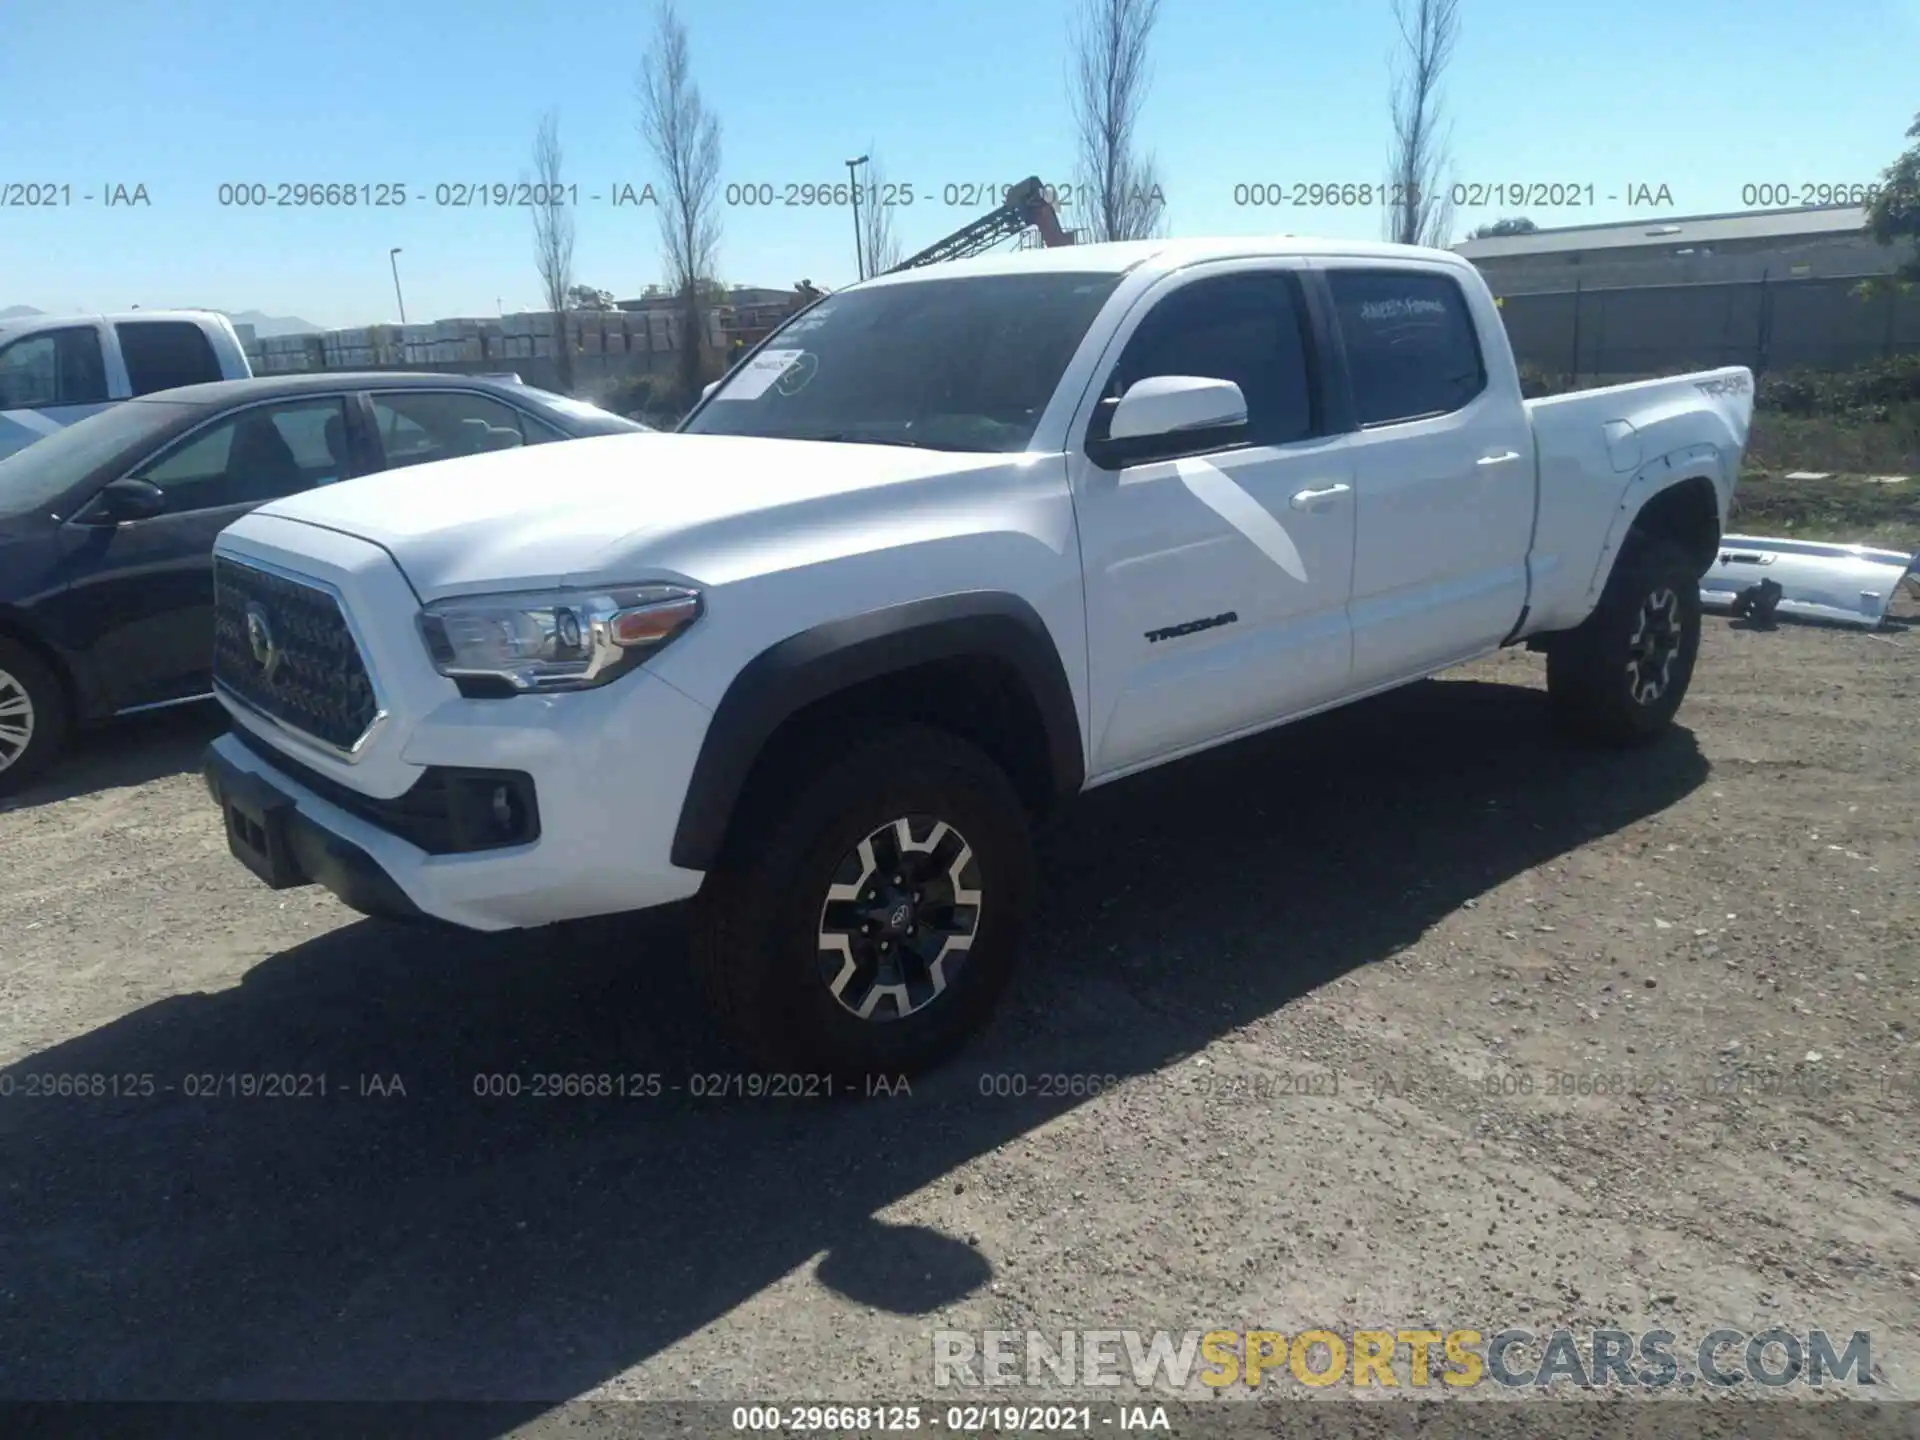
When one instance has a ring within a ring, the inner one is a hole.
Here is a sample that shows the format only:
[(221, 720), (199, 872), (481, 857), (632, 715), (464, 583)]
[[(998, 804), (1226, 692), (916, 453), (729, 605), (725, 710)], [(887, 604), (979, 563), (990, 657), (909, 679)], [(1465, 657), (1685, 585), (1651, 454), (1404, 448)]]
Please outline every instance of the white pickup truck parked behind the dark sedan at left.
[(0, 324), (0, 459), (123, 399), (252, 374), (232, 321), (217, 311), (40, 315)]

